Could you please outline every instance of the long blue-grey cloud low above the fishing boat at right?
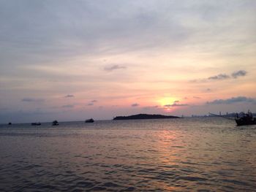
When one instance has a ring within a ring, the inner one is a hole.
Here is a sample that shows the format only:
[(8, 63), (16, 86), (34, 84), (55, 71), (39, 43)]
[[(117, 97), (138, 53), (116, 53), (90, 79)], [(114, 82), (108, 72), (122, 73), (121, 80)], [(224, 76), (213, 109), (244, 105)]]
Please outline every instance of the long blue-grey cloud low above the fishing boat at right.
[(256, 99), (246, 96), (237, 96), (230, 99), (216, 99), (214, 101), (207, 101), (206, 104), (233, 104), (238, 102), (256, 103)]

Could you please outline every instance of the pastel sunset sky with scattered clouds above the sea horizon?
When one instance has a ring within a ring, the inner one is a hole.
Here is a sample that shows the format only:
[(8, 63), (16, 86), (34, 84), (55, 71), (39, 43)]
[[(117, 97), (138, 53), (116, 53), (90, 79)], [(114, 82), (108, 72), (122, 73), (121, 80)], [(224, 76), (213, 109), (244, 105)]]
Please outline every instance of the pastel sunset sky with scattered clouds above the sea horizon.
[(256, 112), (255, 0), (0, 0), (0, 123)]

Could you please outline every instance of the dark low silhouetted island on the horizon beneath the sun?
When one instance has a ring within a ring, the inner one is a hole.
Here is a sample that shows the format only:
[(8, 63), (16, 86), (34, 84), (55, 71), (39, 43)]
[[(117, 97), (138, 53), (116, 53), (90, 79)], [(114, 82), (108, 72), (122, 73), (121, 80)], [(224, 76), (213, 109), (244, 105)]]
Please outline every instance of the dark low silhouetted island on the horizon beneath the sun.
[(117, 116), (113, 120), (130, 120), (130, 119), (173, 119), (179, 118), (172, 115), (148, 115), (148, 114), (138, 114), (138, 115), (129, 115), (129, 116)]

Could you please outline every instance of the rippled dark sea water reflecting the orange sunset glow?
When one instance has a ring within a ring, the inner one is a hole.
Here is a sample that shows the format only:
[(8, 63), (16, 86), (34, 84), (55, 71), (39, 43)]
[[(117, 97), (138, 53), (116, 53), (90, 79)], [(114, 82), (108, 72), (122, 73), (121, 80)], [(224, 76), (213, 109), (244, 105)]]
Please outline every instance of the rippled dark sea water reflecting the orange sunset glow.
[(0, 126), (0, 191), (256, 191), (256, 126), (222, 118)]

